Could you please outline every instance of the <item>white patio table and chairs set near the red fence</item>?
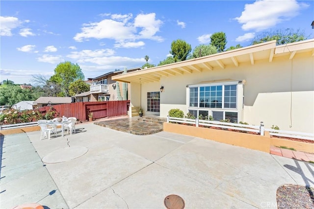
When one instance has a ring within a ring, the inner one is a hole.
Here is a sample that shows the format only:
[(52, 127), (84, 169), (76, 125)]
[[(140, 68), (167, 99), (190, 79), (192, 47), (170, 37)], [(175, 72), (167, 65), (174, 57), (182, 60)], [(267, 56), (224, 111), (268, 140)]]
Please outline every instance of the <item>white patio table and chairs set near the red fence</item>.
[(67, 134), (72, 135), (75, 133), (76, 117), (56, 117), (52, 120), (38, 120), (38, 126), (40, 126), (40, 140), (43, 138), (50, 139), (51, 134), (57, 136), (57, 126), (61, 126), (61, 136), (64, 136), (64, 130), (67, 129)]

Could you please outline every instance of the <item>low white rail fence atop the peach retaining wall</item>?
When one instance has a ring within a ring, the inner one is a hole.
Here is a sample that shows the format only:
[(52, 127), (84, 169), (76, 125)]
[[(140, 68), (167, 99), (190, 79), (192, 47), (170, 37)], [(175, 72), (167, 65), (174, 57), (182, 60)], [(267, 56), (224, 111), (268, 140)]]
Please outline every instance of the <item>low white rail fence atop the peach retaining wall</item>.
[(198, 127), (199, 125), (203, 125), (203, 126), (209, 126), (209, 127), (212, 126), (212, 127), (225, 128), (225, 129), (255, 132), (255, 133), (259, 133), (261, 136), (264, 136), (264, 131), (268, 131), (271, 136), (314, 140), (313, 133), (265, 129), (263, 122), (261, 122), (260, 126), (256, 126), (256, 125), (245, 125), (245, 124), (238, 124), (238, 123), (226, 123), (226, 122), (220, 122), (220, 121), (189, 119), (189, 118), (169, 117), (169, 116), (167, 116), (167, 122), (194, 124), (196, 127)]

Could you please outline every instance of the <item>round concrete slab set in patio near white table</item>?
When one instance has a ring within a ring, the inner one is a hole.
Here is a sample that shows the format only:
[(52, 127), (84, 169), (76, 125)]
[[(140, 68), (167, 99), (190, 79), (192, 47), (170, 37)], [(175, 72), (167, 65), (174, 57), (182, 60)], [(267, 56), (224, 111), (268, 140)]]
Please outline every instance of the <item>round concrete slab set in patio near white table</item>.
[(42, 158), (44, 163), (62, 163), (71, 161), (87, 153), (88, 149), (83, 146), (71, 146), (55, 150)]

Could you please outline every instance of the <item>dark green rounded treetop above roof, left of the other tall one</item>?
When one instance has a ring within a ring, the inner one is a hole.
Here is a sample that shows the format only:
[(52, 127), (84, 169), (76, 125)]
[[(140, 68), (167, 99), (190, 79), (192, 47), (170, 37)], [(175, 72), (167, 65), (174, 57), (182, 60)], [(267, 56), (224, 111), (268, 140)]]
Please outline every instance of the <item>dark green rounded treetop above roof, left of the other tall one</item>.
[(186, 60), (191, 50), (191, 45), (181, 39), (177, 39), (171, 43), (170, 54), (172, 54), (175, 62), (180, 62)]

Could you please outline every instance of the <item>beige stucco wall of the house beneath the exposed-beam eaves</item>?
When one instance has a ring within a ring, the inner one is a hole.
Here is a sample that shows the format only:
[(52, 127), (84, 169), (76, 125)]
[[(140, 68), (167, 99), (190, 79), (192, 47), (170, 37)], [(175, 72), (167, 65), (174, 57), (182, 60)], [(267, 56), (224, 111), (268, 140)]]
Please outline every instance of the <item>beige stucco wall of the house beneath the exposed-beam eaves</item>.
[(287, 54), (274, 57), (272, 62), (258, 60), (254, 65), (240, 63), (239, 67), (226, 65), (225, 69), (217, 67), (162, 76), (160, 83), (142, 84), (141, 104), (146, 108), (146, 93), (159, 91), (162, 85), (160, 116), (166, 117), (172, 108), (180, 108), (186, 114), (186, 85), (221, 79), (246, 81), (242, 121), (255, 125), (263, 121), (265, 128), (277, 125), (281, 130), (314, 132), (314, 56), (311, 52), (297, 53), (292, 60)]

